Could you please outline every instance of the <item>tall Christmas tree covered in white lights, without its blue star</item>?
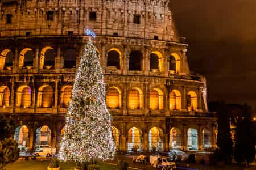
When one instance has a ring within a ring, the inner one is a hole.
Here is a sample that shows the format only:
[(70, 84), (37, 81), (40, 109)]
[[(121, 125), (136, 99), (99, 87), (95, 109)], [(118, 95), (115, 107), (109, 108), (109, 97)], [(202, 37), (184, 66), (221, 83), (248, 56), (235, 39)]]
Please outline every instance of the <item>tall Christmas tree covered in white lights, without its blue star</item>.
[(105, 103), (104, 75), (89, 40), (77, 69), (59, 158), (81, 163), (113, 159), (111, 119)]

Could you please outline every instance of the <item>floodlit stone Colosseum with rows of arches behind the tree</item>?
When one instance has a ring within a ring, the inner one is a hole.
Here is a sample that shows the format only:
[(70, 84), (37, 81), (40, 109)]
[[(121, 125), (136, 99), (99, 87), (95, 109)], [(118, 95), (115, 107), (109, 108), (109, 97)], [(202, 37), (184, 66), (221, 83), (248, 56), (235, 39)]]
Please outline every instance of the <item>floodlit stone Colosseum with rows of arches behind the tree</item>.
[(96, 33), (118, 151), (216, 147), (204, 76), (168, 0), (2, 0), (0, 112), (20, 148), (59, 148), (87, 28)]

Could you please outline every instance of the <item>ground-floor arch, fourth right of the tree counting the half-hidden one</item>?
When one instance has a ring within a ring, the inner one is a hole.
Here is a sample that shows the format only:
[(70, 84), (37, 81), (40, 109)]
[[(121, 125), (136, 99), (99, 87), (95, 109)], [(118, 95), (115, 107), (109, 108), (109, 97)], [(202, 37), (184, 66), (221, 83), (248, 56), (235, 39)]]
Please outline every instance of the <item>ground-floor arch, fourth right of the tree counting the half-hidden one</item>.
[(182, 134), (181, 134), (181, 131), (180, 129), (178, 128), (172, 128), (170, 130), (170, 150), (172, 149), (177, 149), (179, 150), (181, 148), (181, 140), (182, 139)]

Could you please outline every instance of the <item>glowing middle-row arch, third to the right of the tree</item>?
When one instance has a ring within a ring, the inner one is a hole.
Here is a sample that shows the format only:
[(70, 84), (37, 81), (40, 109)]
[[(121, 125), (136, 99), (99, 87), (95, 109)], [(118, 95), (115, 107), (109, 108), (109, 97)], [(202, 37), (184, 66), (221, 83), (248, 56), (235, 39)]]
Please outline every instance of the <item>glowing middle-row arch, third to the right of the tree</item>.
[(150, 90), (150, 109), (163, 109), (163, 91), (159, 88)]

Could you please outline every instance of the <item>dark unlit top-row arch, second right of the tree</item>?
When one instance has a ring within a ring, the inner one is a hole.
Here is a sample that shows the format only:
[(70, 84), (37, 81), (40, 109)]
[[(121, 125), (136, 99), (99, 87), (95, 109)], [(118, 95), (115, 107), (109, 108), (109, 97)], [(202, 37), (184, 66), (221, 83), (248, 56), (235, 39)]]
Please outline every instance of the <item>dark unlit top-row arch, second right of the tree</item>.
[(142, 70), (142, 53), (140, 50), (135, 50), (130, 53), (129, 70)]

